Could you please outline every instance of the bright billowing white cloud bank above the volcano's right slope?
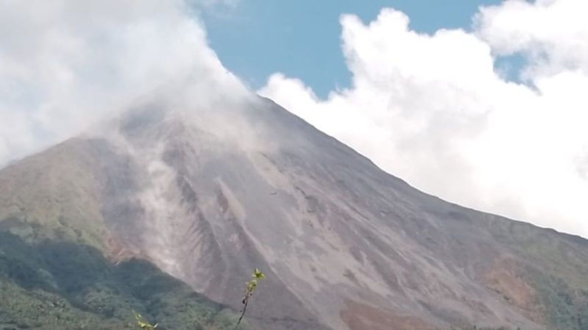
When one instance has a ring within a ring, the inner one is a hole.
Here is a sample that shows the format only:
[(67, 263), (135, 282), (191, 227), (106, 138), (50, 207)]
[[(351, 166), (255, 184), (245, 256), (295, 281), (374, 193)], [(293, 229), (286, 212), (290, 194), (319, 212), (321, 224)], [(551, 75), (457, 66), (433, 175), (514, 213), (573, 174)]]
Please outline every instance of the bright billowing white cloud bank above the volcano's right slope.
[[(276, 73), (258, 92), (422, 190), (588, 237), (587, 5), (506, 1), (433, 35), (393, 9), (344, 15), (352, 87), (321, 100)], [(513, 54), (533, 87), (495, 72)]]

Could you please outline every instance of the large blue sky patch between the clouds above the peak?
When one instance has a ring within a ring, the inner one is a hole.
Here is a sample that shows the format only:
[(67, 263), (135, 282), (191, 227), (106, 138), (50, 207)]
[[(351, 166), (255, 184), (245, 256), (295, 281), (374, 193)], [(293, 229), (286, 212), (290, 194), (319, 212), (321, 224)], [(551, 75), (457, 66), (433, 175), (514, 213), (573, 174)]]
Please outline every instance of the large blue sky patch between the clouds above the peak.
[[(469, 30), (480, 5), (499, 0), (239, 0), (233, 8), (203, 13), (208, 39), (223, 65), (252, 89), (273, 72), (305, 81), (320, 97), (349, 86), (340, 49), (341, 14), (373, 21), (391, 7), (410, 17), (410, 28), (433, 33), (440, 28)], [(505, 65), (506, 67), (507, 65)]]

